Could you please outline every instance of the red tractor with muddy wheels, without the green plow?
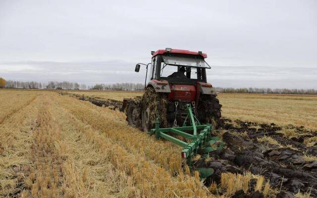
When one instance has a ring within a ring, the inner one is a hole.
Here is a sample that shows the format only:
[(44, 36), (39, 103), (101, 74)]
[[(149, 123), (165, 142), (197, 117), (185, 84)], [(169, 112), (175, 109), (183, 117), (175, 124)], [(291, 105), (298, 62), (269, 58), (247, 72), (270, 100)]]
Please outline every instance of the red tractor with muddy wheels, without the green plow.
[(201, 123), (216, 126), (221, 104), (215, 88), (207, 83), (206, 69), (211, 68), (205, 61), (207, 54), (170, 48), (151, 54), (151, 63), (138, 63), (135, 67), (136, 72), (141, 65), (147, 69), (144, 95), (123, 101), (128, 123), (145, 132), (155, 127), (158, 117), (163, 127), (181, 126), (187, 115), (186, 106), (190, 104)]

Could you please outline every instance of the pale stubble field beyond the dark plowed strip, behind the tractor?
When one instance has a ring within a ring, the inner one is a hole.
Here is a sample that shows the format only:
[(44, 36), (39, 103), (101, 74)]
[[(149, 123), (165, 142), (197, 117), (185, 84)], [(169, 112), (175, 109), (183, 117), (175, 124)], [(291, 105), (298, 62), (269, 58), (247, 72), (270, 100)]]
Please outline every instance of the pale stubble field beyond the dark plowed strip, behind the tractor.
[[(142, 96), (142, 92), (68, 92), (102, 99)], [(293, 124), (317, 130), (317, 96), (220, 93), (222, 116), (259, 123)]]

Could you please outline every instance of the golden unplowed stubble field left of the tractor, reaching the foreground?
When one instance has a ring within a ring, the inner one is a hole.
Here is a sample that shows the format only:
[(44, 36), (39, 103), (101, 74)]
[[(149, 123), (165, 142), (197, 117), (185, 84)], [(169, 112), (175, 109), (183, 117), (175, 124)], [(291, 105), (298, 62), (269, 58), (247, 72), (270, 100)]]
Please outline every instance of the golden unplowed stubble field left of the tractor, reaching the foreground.
[(0, 103), (1, 197), (214, 197), (181, 168), (181, 148), (123, 113), (55, 92), (0, 91), (0, 100), (16, 93), (19, 106)]

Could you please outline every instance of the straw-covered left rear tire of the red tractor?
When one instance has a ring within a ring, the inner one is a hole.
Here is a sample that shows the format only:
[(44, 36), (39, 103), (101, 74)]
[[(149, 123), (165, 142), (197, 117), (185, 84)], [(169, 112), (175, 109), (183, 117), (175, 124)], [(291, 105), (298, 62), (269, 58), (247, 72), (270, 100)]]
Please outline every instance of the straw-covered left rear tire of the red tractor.
[(142, 97), (141, 122), (143, 131), (149, 132), (155, 128), (155, 121), (159, 116), (160, 127), (168, 125), (166, 119), (167, 97), (156, 93), (153, 88), (147, 88)]

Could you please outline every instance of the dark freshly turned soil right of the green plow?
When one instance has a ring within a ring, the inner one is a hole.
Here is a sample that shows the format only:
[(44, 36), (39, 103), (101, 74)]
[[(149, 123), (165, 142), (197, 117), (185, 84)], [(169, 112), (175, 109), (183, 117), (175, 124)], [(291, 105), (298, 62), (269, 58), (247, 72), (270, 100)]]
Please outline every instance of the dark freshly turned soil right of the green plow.
[[(317, 161), (305, 161), (303, 154), (317, 155), (317, 147), (307, 147), (305, 138), (316, 136), (316, 131), (305, 130), (304, 127), (293, 127), (299, 138), (288, 139), (279, 131), (283, 127), (243, 122), (241, 120), (222, 119), (221, 127), (215, 131), (222, 134), (225, 148), (214, 153), (215, 160), (201, 158), (197, 167), (211, 167), (216, 170), (207, 182), (220, 181), (220, 172), (241, 173), (249, 170), (253, 174), (264, 175), (270, 184), (282, 190), (282, 194), (311, 191), (317, 195)], [(260, 143), (263, 137), (270, 137), (279, 145), (269, 142)]]

